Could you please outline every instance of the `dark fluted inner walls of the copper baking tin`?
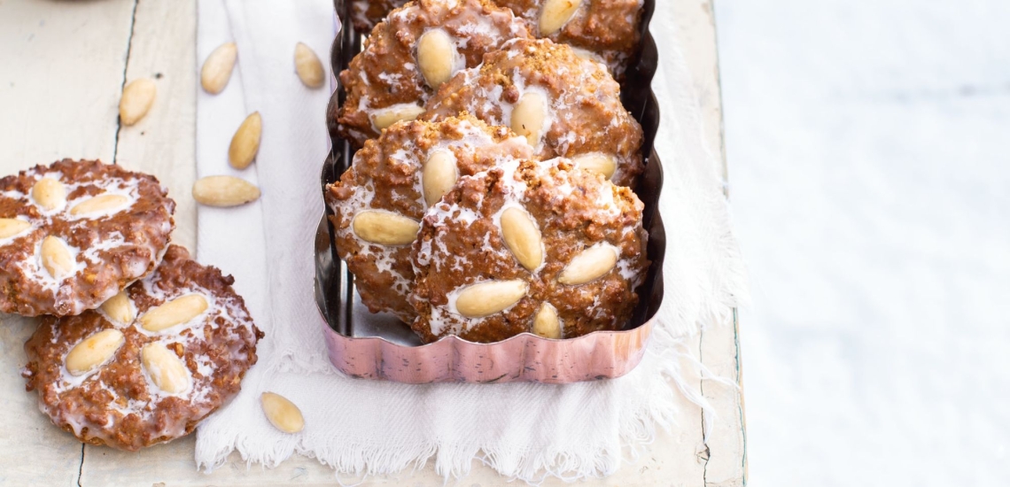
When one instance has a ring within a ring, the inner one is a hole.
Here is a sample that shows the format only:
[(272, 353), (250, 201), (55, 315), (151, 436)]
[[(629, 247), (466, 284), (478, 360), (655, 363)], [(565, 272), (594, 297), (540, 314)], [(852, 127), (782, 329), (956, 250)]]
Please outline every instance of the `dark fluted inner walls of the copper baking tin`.
[[(334, 7), (341, 19), (348, 18), (348, 5), (345, 3), (347, 2), (343, 0), (334, 1)], [(644, 1), (641, 50), (636, 61), (629, 68), (626, 80), (621, 89), (621, 101), (632, 116), (641, 123), (644, 133), (642, 154), (647, 156), (645, 171), (635, 193), (641, 199), (642, 203), (644, 203), (643, 223), (649, 234), (647, 255), (651, 265), (644, 284), (638, 288), (638, 295), (640, 297), (638, 306), (635, 308), (632, 319), (622, 331), (597, 331), (586, 336), (563, 342), (580, 339), (590, 342), (595, 339), (593, 335), (597, 334), (622, 333), (632, 330), (642, 331), (638, 328), (650, 324), (663, 301), (663, 260), (666, 253), (667, 238), (663, 219), (658, 211), (660, 191), (663, 187), (663, 168), (660, 158), (653, 150), (655, 134), (660, 125), (660, 110), (655, 95), (650, 88), (659, 56), (655, 42), (648, 31), (648, 23), (654, 7), (655, 0)], [(333, 46), (330, 52), (330, 64), (334, 74), (346, 68), (354, 56), (361, 51), (362, 39), (363, 36), (355, 32), (354, 26), (349, 22), (342, 22), (341, 29), (333, 40)], [(327, 112), (335, 113), (337, 107), (343, 102), (343, 89), (337, 86), (336, 91), (333, 92), (330, 98)], [(332, 121), (333, 117), (328, 117), (328, 119)], [(327, 184), (339, 179), (340, 174), (347, 169), (354, 157), (350, 143), (336, 133), (333, 124), (329, 126), (329, 131), (332, 139), (332, 151), (323, 164), (320, 175), (320, 184), (323, 191), (325, 191)], [(325, 214), (319, 222), (315, 241), (315, 298), (320, 314), (333, 331), (344, 337), (381, 338), (391, 345), (400, 347), (422, 347), (423, 344), (420, 338), (414, 334), (410, 327), (391, 315), (388, 319), (373, 317), (368, 320), (359, 320), (354, 318), (356, 312), (354, 278), (343, 262), (336, 257), (332, 228), (327, 218), (331, 214), (330, 209), (327, 207)], [(361, 310), (357, 311), (361, 312)], [(650, 326), (645, 327), (648, 328)], [(524, 335), (528, 335), (524, 339), (559, 342), (546, 340), (545, 338), (539, 338), (529, 333), (523, 333), (521, 336)], [(439, 342), (449, 338), (466, 343), (466, 340), (456, 336), (442, 338)], [(484, 344), (475, 345), (486, 346)], [(493, 347), (494, 344), (491, 346)], [(644, 344), (640, 346), (644, 347)], [(633, 359), (636, 364), (637, 360), (640, 359), (640, 355)]]

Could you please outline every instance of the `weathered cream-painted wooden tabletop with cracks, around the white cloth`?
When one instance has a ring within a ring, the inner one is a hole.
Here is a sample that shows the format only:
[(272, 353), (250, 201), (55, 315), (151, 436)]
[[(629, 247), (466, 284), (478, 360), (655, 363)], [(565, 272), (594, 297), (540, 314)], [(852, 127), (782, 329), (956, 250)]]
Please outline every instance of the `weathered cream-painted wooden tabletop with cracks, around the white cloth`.
[[(721, 104), (710, 0), (675, 0), (688, 64), (705, 115), (710, 149), (722, 154)], [(59, 158), (100, 158), (157, 175), (179, 203), (174, 240), (195, 248), (196, 4), (172, 0), (54, 2), (0, 0), (0, 174)], [(138, 124), (120, 127), (125, 81), (155, 79), (159, 95)], [(276, 469), (246, 468), (232, 455), (212, 474), (195, 471), (194, 439), (137, 454), (82, 447), (57, 429), (24, 392), (22, 344), (34, 320), (0, 315), (0, 485), (332, 485), (333, 472), (297, 457)], [(711, 326), (693, 344), (714, 373), (741, 380), (735, 323)], [(598, 485), (742, 485), (746, 475), (743, 406), (737, 391), (694, 381), (716, 410), (702, 442), (704, 418), (682, 401), (680, 424), (663, 432), (638, 460)], [(359, 479), (342, 478), (344, 482)], [(475, 462), (450, 485), (506, 485)], [(368, 479), (367, 485), (441, 485), (428, 466)], [(508, 484), (511, 485), (511, 484)], [(544, 485), (563, 485), (545, 482)]]

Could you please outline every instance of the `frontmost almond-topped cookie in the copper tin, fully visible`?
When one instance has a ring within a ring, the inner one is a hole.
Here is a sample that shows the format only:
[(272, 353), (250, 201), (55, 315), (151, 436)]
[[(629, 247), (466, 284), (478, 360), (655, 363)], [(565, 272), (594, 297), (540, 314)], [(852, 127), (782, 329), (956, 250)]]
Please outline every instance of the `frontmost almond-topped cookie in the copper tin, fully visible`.
[(628, 188), (567, 160), (461, 178), (414, 244), (414, 331), (492, 343), (622, 328), (648, 267), (641, 210)]

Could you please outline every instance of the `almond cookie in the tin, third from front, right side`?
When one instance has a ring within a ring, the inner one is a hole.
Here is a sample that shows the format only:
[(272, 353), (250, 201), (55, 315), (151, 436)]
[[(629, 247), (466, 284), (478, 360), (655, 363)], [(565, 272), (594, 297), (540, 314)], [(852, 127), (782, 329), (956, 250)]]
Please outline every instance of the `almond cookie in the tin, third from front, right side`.
[(457, 74), (432, 96), (424, 120), (470, 112), (527, 137), (541, 160), (577, 166), (633, 187), (643, 170), (641, 125), (599, 63), (549, 39), (516, 39)]

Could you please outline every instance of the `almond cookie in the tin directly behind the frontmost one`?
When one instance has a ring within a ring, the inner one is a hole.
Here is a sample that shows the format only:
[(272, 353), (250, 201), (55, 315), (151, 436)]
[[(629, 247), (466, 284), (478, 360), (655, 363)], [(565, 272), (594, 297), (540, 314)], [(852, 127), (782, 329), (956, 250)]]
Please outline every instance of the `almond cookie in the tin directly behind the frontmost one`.
[(425, 210), (459, 177), (531, 154), (507, 128), (468, 115), (400, 122), (369, 140), (326, 195), (337, 255), (355, 274), (369, 309), (413, 321), (416, 313), (407, 302), (414, 279), (410, 245)]

